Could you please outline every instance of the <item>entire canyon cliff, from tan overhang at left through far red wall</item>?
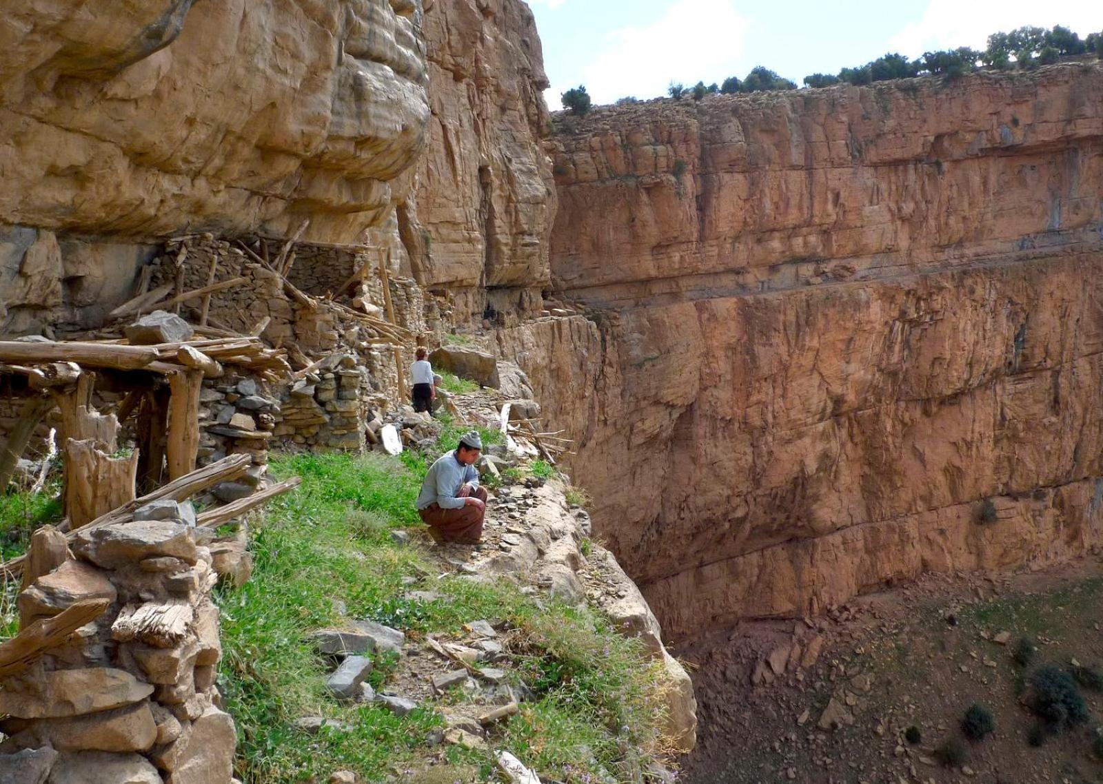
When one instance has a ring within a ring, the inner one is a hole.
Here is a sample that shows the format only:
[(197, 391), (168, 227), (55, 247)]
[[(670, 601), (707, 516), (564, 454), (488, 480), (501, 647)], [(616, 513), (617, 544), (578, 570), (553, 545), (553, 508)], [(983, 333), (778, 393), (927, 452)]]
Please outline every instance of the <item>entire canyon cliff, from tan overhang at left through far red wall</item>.
[(575, 117), (518, 0), (44, 6), (0, 20), (4, 335), (176, 234), (382, 248), (677, 642), (1103, 544), (1097, 61)]

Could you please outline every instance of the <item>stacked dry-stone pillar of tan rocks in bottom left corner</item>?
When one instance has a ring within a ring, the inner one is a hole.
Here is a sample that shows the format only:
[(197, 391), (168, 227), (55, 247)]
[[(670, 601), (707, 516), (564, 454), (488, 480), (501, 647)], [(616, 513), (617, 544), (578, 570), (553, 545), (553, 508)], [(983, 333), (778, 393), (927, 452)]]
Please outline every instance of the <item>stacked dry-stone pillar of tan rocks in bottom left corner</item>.
[(194, 526), (191, 504), (154, 502), (133, 522), (79, 531), (72, 556), (20, 594), (23, 627), (83, 600), (110, 605), (0, 683), (0, 781), (232, 781), (236, 737), (215, 688), (222, 646), (211, 599), (214, 552), (225, 548)]

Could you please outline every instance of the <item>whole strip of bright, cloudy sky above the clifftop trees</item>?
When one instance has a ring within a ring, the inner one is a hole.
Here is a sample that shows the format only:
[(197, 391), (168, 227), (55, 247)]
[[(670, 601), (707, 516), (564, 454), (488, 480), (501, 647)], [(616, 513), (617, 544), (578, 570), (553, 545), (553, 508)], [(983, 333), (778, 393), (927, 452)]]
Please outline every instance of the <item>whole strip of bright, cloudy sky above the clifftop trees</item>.
[(984, 49), (989, 33), (1103, 30), (1099, 0), (527, 0), (552, 82), (548, 107), (586, 85), (596, 104), (665, 95), (671, 82), (742, 78), (764, 65), (797, 85), (887, 52)]

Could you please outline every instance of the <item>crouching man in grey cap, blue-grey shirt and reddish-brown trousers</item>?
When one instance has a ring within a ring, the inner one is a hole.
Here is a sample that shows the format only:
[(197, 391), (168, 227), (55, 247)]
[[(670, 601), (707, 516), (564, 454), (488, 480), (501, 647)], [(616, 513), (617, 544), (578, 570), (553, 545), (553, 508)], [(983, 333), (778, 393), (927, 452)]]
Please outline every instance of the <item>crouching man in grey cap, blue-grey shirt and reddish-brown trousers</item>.
[(482, 541), (486, 491), (479, 486), (479, 472), (474, 468), (481, 451), (479, 433), (465, 432), (456, 451), (438, 458), (425, 475), (417, 511), (438, 545)]

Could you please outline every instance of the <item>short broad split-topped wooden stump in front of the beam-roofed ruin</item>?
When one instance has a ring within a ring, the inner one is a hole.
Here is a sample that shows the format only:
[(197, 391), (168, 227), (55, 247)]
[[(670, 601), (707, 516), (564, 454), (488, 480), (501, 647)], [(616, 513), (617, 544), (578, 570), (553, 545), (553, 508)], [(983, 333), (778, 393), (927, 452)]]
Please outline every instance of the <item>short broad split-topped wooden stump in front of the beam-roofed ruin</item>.
[(65, 515), (69, 530), (133, 501), (138, 453), (115, 458), (92, 440), (65, 442)]

